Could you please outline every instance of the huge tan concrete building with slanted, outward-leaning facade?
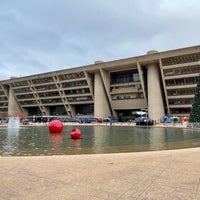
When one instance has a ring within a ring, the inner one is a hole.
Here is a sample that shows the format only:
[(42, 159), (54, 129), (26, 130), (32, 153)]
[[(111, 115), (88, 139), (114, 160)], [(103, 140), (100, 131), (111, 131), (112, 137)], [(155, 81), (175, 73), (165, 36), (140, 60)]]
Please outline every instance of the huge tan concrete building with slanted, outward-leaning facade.
[(160, 121), (188, 116), (200, 74), (200, 46), (0, 81), (0, 114)]

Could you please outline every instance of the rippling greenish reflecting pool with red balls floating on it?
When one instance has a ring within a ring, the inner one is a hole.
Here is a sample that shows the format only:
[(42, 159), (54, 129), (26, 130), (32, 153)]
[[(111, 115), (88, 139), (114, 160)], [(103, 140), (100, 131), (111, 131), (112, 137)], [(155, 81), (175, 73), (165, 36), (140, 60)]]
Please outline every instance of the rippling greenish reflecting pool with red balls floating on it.
[[(78, 128), (81, 139), (72, 140)], [(200, 131), (181, 128), (65, 126), (50, 134), (47, 126), (0, 127), (0, 156), (35, 156), (156, 151), (200, 146)]]

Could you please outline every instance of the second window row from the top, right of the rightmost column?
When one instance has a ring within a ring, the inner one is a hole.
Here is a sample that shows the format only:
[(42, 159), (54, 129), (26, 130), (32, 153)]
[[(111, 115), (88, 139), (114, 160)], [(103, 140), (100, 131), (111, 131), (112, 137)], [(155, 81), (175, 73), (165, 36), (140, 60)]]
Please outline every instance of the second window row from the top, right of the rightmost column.
[(165, 69), (165, 70), (163, 70), (163, 73), (165, 76), (200, 73), (200, 65), (177, 67), (177, 68), (173, 68), (173, 69)]

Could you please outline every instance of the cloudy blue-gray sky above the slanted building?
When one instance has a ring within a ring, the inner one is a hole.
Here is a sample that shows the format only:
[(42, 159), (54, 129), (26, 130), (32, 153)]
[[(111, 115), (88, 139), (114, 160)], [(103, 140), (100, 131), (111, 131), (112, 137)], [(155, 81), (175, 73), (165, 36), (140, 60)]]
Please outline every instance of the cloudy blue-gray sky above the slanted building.
[(0, 0), (0, 80), (199, 41), (199, 0)]

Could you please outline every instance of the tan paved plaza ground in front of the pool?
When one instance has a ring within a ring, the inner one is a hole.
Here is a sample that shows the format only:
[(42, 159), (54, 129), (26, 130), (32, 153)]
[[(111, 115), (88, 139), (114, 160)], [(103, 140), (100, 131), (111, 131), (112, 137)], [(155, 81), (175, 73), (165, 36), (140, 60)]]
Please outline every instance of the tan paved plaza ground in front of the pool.
[(0, 200), (200, 199), (200, 148), (0, 157)]

